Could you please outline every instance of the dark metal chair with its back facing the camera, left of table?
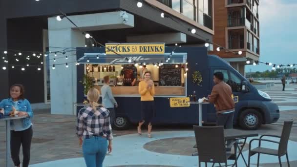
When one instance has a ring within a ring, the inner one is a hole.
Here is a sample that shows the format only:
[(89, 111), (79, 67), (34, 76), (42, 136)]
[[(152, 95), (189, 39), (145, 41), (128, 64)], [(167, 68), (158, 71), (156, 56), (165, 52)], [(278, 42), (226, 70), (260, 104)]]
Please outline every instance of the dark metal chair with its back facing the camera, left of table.
[[(237, 145), (236, 142), (231, 142), (228, 147), (234, 146), (234, 154), (226, 152), (225, 137), (224, 137), (224, 127), (223, 126), (196, 126), (193, 125), (197, 150), (198, 150), (198, 161), (199, 167), (201, 167), (201, 162), (225, 163), (227, 167), (227, 159), (232, 155), (236, 155)], [(236, 157), (236, 156), (235, 156)], [(237, 167), (237, 160), (235, 158), (235, 163), (233, 166)], [(232, 167), (233, 167), (232, 166)]]

